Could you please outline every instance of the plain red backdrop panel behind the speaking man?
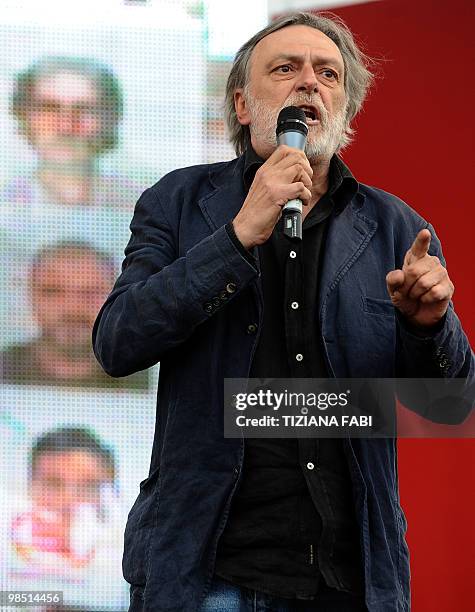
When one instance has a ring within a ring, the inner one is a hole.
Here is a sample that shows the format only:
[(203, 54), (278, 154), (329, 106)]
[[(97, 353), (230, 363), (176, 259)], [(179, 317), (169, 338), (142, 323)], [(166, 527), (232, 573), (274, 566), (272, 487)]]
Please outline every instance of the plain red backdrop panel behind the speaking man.
[[(335, 12), (382, 60), (345, 161), (434, 225), (474, 344), (475, 3), (383, 0)], [(399, 472), (413, 611), (475, 610), (475, 440), (400, 440)]]

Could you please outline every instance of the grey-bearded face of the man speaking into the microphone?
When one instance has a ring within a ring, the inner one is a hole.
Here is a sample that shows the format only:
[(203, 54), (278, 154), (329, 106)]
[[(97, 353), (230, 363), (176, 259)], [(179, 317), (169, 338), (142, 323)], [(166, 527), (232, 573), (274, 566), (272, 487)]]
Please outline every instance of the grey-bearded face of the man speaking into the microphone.
[(345, 129), (344, 64), (335, 43), (319, 30), (289, 26), (256, 45), (249, 82), (235, 94), (241, 124), (249, 125), (254, 150), (267, 158), (276, 147), (282, 108), (305, 110), (309, 159), (329, 159)]

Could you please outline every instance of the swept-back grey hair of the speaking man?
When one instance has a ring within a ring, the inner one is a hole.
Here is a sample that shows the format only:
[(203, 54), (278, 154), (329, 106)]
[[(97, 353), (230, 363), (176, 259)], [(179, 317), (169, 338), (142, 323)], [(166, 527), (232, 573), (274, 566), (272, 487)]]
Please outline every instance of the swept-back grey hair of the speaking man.
[(252, 52), (257, 43), (282, 28), (292, 25), (305, 25), (319, 30), (330, 38), (340, 50), (345, 67), (344, 88), (346, 93), (345, 131), (339, 149), (348, 145), (354, 134), (350, 123), (363, 106), (368, 90), (374, 80), (374, 74), (369, 67), (374, 64), (356, 44), (348, 26), (333, 13), (292, 13), (273, 21), (245, 42), (234, 58), (234, 62), (226, 83), (224, 99), (224, 116), (236, 154), (241, 155), (251, 143), (249, 126), (241, 125), (234, 108), (234, 92), (245, 88), (249, 83), (249, 68)]

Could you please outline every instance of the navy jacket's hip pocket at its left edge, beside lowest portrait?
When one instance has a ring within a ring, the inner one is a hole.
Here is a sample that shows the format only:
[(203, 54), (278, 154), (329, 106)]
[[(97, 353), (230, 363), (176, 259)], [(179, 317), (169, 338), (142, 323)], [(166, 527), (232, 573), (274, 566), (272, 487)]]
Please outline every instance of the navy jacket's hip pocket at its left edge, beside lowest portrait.
[(132, 585), (145, 586), (148, 549), (155, 525), (160, 468), (140, 483), (140, 493), (132, 506), (124, 532), (122, 571)]

